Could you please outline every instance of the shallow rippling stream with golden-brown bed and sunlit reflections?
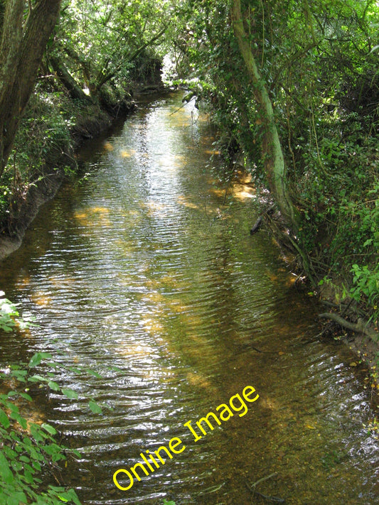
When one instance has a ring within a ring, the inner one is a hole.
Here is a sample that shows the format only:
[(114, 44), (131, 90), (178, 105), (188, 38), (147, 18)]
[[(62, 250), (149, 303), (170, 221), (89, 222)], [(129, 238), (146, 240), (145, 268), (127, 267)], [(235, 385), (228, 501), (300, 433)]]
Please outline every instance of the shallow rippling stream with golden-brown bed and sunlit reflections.
[[(88, 144), (87, 180), (45, 205), (1, 265), (0, 289), (41, 325), (1, 342), (1, 361), (48, 350), (101, 374), (61, 372), (78, 401), (51, 394), (38, 406), (82, 452), (63, 477), (85, 505), (274, 503), (246, 486), (273, 472), (257, 490), (287, 504), (376, 504), (363, 371), (341, 345), (317, 340), (317, 308), (269, 235), (250, 237), (252, 188), (230, 188), (224, 205), (207, 168), (208, 124), (180, 105), (142, 104)], [(260, 395), (245, 415), (236, 408), (195, 442), (184, 423), (245, 386)], [(185, 450), (129, 490), (114, 486), (117, 469), (176, 437)]]

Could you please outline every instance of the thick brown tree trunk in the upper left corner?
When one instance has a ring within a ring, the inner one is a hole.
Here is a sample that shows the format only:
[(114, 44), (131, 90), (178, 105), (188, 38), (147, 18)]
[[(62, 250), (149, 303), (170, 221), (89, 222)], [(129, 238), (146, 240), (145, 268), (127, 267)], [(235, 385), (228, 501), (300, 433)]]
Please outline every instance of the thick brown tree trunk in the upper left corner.
[(14, 144), (61, 0), (38, 0), (23, 26), (24, 0), (6, 0), (0, 42), (0, 176)]

